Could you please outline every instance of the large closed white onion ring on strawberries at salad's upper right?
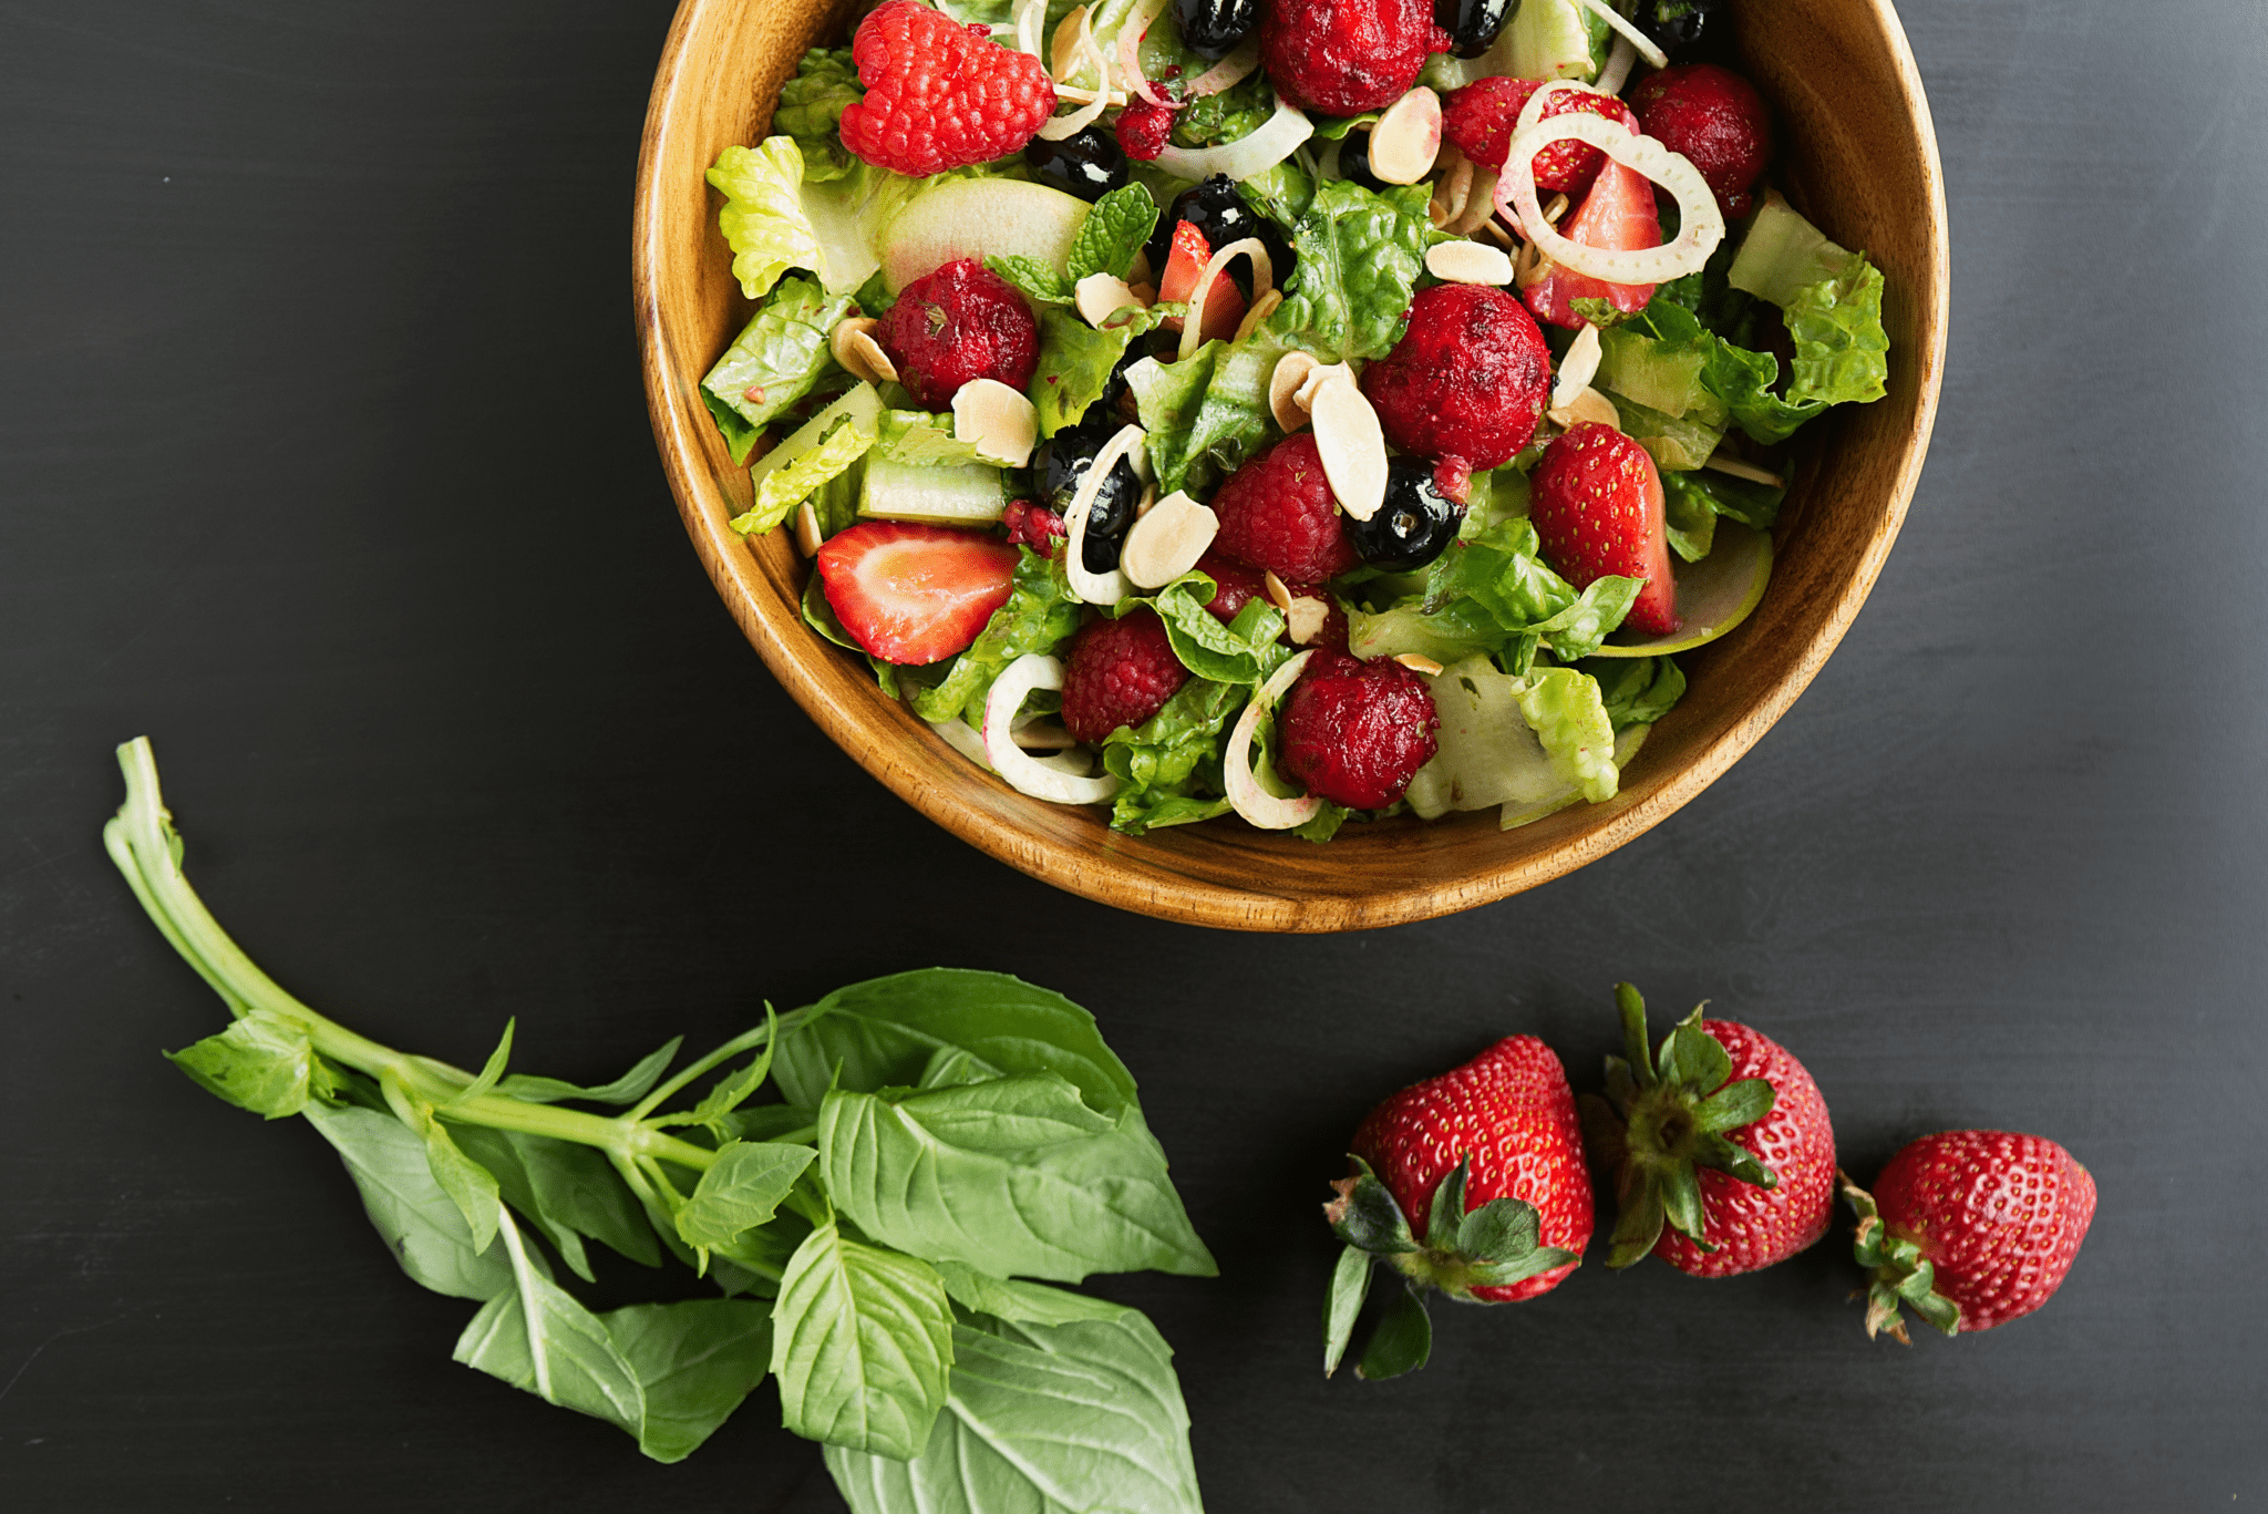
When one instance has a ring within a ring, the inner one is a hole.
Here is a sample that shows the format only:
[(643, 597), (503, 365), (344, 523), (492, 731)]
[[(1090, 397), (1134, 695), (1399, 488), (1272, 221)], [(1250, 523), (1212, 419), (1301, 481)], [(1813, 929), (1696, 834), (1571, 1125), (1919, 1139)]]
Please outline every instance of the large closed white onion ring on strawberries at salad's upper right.
[[(1538, 95), (1542, 91), (1535, 91)], [(1678, 236), (1660, 247), (1637, 247), (1613, 252), (1608, 247), (1585, 247), (1545, 220), (1535, 202), (1535, 154), (1551, 143), (1579, 141), (1597, 148), (1631, 173), (1644, 175), (1667, 188), (1678, 202)], [(1665, 148), (1653, 136), (1640, 136), (1619, 120), (1569, 111), (1551, 120), (1538, 120), (1524, 132), (1513, 132), (1513, 145), (1504, 159), (1504, 175), (1497, 179), (1497, 209), (1520, 220), (1520, 232), (1542, 256), (1569, 272), (1601, 279), (1606, 284), (1667, 284), (1690, 272), (1701, 272), (1717, 243), (1724, 241), (1724, 213), (1717, 195), (1692, 161)]]

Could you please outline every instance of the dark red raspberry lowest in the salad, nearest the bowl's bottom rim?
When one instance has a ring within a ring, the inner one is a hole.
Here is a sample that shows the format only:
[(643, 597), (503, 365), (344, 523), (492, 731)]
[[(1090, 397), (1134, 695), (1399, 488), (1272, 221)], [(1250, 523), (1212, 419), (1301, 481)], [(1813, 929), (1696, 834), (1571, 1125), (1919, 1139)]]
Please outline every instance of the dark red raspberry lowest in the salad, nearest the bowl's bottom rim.
[(1395, 663), (1318, 651), (1284, 699), (1284, 776), (1349, 810), (1383, 810), (1433, 756), (1440, 715)]

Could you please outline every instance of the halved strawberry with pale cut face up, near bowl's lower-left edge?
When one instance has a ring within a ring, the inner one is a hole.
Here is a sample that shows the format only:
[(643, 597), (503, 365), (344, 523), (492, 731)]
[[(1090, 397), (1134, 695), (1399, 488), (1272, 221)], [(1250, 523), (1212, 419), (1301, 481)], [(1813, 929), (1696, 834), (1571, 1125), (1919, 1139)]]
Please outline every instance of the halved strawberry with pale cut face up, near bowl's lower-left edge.
[(937, 663), (1007, 604), (1016, 549), (993, 536), (866, 520), (819, 549), (835, 620), (885, 663)]

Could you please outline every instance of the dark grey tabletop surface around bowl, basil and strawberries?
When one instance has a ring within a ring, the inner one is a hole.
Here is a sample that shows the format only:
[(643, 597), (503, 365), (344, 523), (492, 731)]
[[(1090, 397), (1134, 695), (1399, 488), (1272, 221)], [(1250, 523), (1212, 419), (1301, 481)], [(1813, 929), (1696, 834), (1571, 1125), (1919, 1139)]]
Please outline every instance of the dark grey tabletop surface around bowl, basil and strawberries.
[[(1422, 926), (1270, 940), (930, 826), (742, 642), (637, 384), (667, 0), (0, 2), (0, 1503), (832, 1509), (758, 1389), (694, 1460), (449, 1362), (331, 1151), (159, 1060), (222, 1024), (100, 849), (147, 733), (191, 876), (399, 1046), (606, 1078), (885, 969), (1018, 972), (1143, 1080), (1218, 1280), (1134, 1276), (1227, 1509), (2216, 1509), (2268, 1494), (2259, 577), (2268, 14), (1910, 0), (1953, 343), (1867, 613), (1726, 779)], [(1585, 1267), (1318, 1373), (1315, 1214), (1390, 1090), (1608, 987), (1794, 1049), (1862, 1178), (2068, 1144), (1991, 1335), (1869, 1344), (1837, 1242)], [(642, 1280), (619, 1269), (624, 1296)]]

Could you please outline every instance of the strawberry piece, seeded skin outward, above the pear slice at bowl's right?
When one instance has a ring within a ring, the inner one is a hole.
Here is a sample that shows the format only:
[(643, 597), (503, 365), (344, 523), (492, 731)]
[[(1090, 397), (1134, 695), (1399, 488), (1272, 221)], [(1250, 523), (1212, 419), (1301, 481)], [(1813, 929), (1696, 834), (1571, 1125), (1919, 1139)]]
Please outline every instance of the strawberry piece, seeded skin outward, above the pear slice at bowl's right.
[(1529, 490), (1529, 522), (1563, 579), (1576, 588), (1608, 574), (1644, 579), (1622, 624), (1647, 636), (1678, 629), (1662, 474), (1644, 447), (1615, 427), (1583, 422), (1545, 447)]

